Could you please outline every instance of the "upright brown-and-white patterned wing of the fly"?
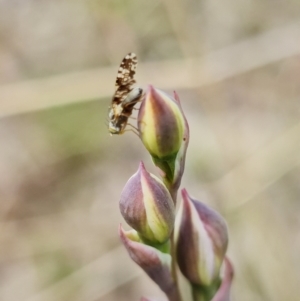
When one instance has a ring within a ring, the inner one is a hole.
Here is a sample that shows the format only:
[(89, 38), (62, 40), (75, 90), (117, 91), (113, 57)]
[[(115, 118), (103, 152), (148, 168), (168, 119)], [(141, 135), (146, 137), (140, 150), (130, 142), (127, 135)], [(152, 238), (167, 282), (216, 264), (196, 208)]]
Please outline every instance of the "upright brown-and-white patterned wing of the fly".
[(116, 79), (116, 92), (112, 99), (112, 104), (118, 105), (124, 101), (135, 83), (134, 75), (137, 67), (137, 57), (135, 53), (128, 53), (118, 70)]

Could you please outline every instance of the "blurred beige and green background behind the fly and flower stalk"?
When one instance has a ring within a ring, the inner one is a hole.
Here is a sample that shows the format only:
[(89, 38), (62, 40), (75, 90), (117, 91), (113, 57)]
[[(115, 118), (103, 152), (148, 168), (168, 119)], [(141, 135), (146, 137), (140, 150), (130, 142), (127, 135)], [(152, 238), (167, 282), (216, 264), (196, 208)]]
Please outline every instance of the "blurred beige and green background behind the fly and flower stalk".
[(149, 156), (110, 137), (118, 65), (176, 90), (182, 186), (230, 231), (234, 300), (299, 300), (300, 2), (0, 0), (0, 300), (165, 300), (121, 246)]

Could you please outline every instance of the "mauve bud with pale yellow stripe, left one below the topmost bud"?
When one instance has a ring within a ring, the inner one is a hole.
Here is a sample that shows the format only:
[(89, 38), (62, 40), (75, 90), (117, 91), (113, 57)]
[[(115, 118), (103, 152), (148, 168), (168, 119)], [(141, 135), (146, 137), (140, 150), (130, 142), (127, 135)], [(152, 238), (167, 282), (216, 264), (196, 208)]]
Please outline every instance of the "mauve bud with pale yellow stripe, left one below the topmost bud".
[(143, 163), (121, 193), (120, 210), (145, 242), (162, 244), (169, 239), (175, 220), (171, 195), (160, 179), (146, 171)]

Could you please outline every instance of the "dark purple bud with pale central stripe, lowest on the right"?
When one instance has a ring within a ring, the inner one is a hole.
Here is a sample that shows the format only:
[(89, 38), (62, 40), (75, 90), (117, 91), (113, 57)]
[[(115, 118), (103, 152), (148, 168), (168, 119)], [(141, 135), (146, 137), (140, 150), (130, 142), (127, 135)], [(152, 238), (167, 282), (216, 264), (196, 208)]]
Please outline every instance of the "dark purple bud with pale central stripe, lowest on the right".
[(203, 203), (192, 199), (185, 189), (175, 221), (178, 266), (194, 285), (211, 286), (220, 279), (228, 244), (223, 217)]

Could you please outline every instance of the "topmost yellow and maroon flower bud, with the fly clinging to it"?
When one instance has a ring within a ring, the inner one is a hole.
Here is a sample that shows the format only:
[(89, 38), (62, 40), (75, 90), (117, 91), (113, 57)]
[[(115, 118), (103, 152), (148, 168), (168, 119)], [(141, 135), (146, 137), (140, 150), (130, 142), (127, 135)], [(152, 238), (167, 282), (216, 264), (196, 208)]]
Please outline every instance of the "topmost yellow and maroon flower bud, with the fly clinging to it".
[[(149, 86), (138, 115), (140, 138), (158, 166), (164, 181), (172, 183), (176, 158), (187, 140), (187, 123), (179, 101)], [(179, 163), (180, 165), (180, 163)]]

